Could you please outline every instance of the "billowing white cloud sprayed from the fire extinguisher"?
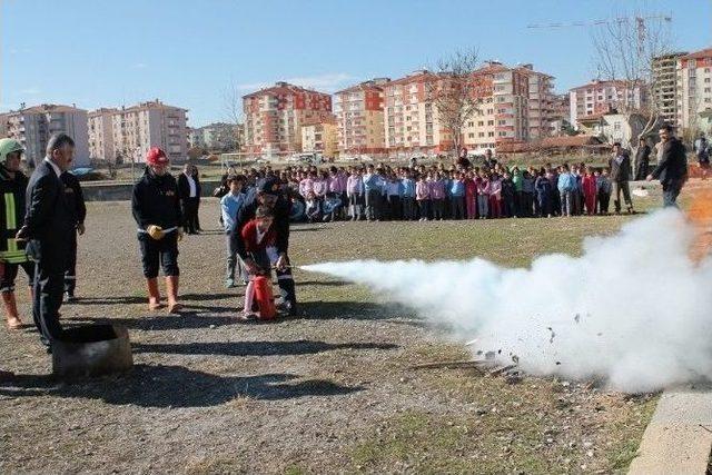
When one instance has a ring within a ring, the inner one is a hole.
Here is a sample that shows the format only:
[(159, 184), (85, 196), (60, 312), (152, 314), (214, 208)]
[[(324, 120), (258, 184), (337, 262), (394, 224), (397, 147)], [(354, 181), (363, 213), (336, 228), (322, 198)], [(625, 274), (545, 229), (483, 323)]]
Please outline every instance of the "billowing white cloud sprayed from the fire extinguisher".
[(487, 260), (304, 266), (368, 286), (458, 339), (518, 357), (536, 375), (604, 378), (625, 392), (712, 379), (712, 260), (688, 251), (693, 229), (666, 209), (591, 237), (582, 257), (536, 258), (530, 268)]

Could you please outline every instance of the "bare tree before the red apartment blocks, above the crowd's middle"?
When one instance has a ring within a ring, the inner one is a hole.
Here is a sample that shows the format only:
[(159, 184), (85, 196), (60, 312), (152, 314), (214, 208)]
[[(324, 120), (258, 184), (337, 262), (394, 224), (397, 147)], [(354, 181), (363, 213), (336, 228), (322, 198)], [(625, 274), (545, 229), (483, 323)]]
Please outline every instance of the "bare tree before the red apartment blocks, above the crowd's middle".
[(479, 103), (477, 50), (458, 50), (437, 61), (434, 77), (426, 82), (426, 97), (435, 106), (443, 128), (452, 136), (455, 155), (463, 142), (463, 129)]

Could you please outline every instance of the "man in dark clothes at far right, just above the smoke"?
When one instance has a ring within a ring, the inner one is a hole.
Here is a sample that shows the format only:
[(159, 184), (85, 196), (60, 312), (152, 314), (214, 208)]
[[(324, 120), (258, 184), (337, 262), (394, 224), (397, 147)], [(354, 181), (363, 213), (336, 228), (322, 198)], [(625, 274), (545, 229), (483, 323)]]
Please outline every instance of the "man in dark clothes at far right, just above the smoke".
[(685, 146), (674, 136), (672, 126), (665, 123), (659, 132), (662, 154), (657, 167), (646, 178), (652, 181), (659, 178), (663, 186), (663, 206), (678, 207), (678, 195), (688, 180), (688, 156)]

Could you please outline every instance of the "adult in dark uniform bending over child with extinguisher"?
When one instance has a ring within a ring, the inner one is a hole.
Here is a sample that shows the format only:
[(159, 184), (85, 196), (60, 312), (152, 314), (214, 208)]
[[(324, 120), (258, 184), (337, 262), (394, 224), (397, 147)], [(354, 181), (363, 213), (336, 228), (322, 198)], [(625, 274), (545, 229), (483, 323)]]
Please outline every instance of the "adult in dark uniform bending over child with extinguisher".
[(230, 235), (237, 254), (245, 264), (247, 271), (254, 274), (257, 263), (246, 251), (241, 238), (243, 228), (255, 218), (257, 208), (264, 207), (274, 216), (273, 228), (275, 230), (277, 285), (281, 295), (280, 307), (287, 315), (297, 315), (297, 297), (295, 294), (294, 277), (289, 266), (287, 251), (289, 248), (289, 201), (279, 190), (279, 181), (276, 178), (265, 178), (257, 184), (257, 192), (249, 196), (237, 214), (235, 228)]

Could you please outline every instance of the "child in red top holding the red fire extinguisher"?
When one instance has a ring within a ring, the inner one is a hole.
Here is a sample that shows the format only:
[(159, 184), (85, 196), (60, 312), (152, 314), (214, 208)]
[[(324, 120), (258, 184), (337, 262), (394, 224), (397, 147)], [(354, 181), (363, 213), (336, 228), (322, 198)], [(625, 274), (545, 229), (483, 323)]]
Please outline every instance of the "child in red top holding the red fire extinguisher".
[(276, 315), (271, 298), (271, 267), (277, 263), (278, 256), (273, 220), (271, 210), (259, 207), (255, 218), (243, 227), (243, 248), (249, 281), (245, 289), (245, 307), (238, 317), (241, 320), (271, 319)]

